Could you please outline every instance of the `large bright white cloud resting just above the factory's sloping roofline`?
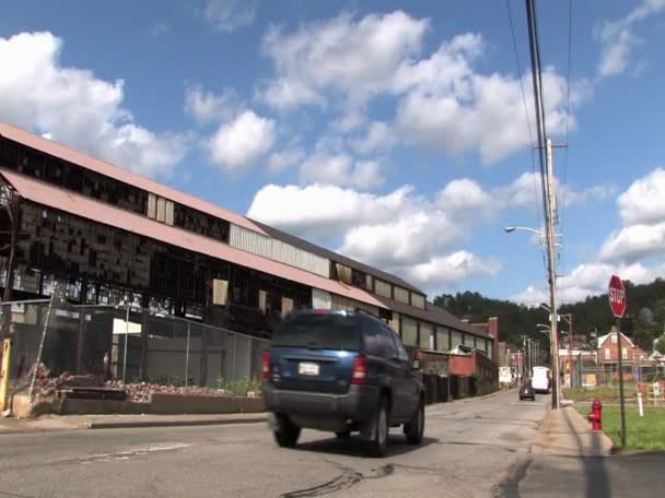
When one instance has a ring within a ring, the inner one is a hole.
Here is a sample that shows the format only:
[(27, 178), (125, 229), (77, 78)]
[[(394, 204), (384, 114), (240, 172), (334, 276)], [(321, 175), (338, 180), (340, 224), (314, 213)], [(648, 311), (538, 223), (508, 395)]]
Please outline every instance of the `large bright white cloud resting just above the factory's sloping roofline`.
[(341, 235), (340, 252), (433, 290), (499, 270), (493, 259), (451, 252), (468, 226), (408, 186), (376, 195), (336, 186), (269, 185), (247, 215), (310, 239), (334, 242)]

